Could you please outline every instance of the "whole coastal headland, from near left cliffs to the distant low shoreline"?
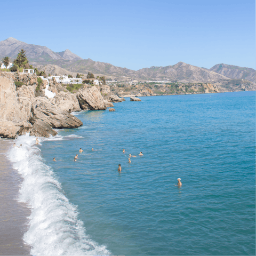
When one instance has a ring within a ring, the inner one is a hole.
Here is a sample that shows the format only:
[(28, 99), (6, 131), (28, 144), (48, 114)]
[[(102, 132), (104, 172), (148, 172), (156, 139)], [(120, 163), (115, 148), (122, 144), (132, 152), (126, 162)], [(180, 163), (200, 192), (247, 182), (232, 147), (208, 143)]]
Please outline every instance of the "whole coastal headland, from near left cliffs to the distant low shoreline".
[[(105, 78), (104, 78), (105, 79)], [(93, 79), (92, 79), (93, 80)], [(17, 138), (30, 133), (36, 137), (57, 134), (53, 129), (76, 128), (83, 123), (73, 111), (105, 110), (123, 97), (225, 92), (212, 83), (62, 84), (55, 79), (16, 72), (0, 73), (0, 137)], [(87, 81), (85, 81), (87, 82)], [(251, 83), (250, 83), (251, 84)], [(249, 85), (250, 85), (249, 84)], [(230, 86), (230, 84), (229, 84)], [(230, 91), (255, 90), (238, 84)]]

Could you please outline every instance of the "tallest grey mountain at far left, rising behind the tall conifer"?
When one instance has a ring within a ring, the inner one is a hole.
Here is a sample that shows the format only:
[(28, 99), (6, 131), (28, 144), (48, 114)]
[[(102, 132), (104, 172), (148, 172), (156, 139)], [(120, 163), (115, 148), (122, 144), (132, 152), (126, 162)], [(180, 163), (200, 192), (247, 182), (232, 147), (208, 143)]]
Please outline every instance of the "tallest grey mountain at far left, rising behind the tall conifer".
[(59, 60), (59, 62), (82, 60), (82, 58), (69, 50), (64, 52), (53, 52), (46, 46), (27, 44), (13, 37), (9, 37), (0, 42), (0, 59), (5, 56), (14, 59), (22, 48), (26, 50), (29, 63), (33, 65), (44, 65), (45, 63), (49, 63), (49, 61), (54, 62), (56, 60)]

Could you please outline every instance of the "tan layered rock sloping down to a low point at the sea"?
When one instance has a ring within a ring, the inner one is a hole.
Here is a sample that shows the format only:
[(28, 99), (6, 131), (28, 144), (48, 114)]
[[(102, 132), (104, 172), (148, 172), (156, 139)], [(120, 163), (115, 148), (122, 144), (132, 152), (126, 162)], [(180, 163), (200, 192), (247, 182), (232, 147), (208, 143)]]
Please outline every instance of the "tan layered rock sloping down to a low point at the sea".
[(49, 99), (37, 97), (31, 109), (30, 123), (34, 125), (37, 120), (49, 124), (52, 128), (77, 128), (83, 123), (73, 115), (62, 110)]

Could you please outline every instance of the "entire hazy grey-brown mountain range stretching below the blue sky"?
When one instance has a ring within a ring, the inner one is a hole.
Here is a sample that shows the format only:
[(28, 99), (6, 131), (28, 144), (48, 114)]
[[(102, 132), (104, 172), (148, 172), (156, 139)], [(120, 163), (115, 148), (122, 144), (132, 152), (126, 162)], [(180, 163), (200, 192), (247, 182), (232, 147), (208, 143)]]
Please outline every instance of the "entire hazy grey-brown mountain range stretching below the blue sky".
[[(46, 46), (27, 44), (13, 37), (0, 42), (0, 58), (8, 56), (11, 60), (17, 57), (21, 49), (26, 50), (29, 63), (47, 73), (63, 72), (87, 74), (101, 74), (111, 77), (132, 79), (170, 79), (186, 82), (212, 82), (227, 79), (246, 79), (255, 83), (255, 70), (233, 65), (217, 64), (210, 69), (178, 62), (172, 66), (142, 68), (137, 71), (116, 67), (110, 63), (82, 59), (68, 49), (62, 52), (53, 52)], [(60, 67), (61, 69), (58, 69)], [(55, 71), (54, 71), (55, 70)], [(60, 73), (59, 73), (60, 74)]]

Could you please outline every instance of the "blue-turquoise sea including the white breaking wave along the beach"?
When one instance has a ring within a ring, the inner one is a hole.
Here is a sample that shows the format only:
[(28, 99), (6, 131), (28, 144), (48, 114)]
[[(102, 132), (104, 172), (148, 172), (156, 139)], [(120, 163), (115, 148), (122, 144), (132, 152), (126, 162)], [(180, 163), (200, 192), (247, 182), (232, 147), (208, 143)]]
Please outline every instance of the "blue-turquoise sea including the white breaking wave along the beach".
[(30, 253), (255, 255), (255, 91), (140, 99), (14, 141)]

